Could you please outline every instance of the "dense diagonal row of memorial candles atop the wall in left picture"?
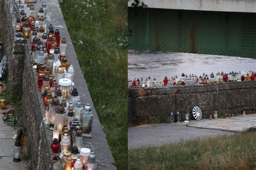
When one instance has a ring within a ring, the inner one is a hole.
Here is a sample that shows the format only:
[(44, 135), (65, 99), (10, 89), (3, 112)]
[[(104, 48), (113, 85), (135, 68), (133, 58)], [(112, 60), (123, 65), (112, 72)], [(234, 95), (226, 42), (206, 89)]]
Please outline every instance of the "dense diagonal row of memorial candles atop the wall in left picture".
[(83, 137), (91, 138), (93, 114), (90, 104), (82, 105), (74, 87), (75, 71), (66, 56), (66, 39), (60, 41), (60, 31), (54, 30), (52, 24), (47, 27), (45, 2), (37, 16), (35, 3), (18, 1), (15, 4), (19, 12), (16, 36), (31, 42), (37, 89), (45, 106), (44, 123), (53, 130), (52, 152), (55, 158), (60, 157), (64, 169), (96, 169), (95, 153), (83, 147)]

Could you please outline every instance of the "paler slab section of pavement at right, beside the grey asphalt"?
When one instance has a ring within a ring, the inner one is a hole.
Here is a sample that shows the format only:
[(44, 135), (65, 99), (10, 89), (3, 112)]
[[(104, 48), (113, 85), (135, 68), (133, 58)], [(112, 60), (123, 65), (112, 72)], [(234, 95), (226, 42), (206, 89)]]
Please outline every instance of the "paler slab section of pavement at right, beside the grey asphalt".
[(187, 126), (241, 132), (252, 126), (256, 126), (256, 114), (239, 115), (236, 117), (227, 117), (225, 119), (191, 120)]

